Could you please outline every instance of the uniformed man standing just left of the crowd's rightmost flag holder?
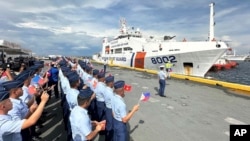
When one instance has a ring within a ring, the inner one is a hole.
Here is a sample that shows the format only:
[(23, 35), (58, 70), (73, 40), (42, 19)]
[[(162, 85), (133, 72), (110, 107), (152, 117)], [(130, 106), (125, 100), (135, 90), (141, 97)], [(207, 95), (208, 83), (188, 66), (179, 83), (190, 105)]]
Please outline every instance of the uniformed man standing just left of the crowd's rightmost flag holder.
[(113, 116), (112, 116), (112, 106), (111, 100), (114, 97), (113, 87), (114, 87), (114, 76), (107, 76), (105, 78), (106, 90), (104, 95), (104, 101), (106, 105), (105, 117), (106, 117), (106, 133), (105, 141), (113, 141)]

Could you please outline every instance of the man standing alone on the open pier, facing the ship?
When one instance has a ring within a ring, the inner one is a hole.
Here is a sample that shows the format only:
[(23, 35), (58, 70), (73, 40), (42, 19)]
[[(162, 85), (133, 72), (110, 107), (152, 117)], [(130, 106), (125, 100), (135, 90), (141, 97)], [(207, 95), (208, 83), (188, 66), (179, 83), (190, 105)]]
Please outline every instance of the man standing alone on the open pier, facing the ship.
[(160, 66), (160, 71), (158, 72), (158, 77), (159, 77), (159, 95), (161, 97), (166, 97), (166, 95), (164, 94), (165, 91), (165, 86), (166, 86), (166, 72), (164, 71), (164, 66)]

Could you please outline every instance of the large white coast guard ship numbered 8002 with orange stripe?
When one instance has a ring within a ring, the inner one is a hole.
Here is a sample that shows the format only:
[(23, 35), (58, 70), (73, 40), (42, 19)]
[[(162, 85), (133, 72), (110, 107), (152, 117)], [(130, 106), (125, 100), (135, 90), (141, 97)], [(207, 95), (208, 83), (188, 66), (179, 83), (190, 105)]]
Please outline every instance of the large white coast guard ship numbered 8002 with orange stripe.
[(165, 36), (159, 41), (142, 36), (139, 30), (128, 29), (121, 20), (120, 34), (108, 41), (104, 38), (100, 54), (93, 60), (113, 65), (158, 70), (168, 61), (174, 64), (173, 73), (204, 77), (211, 66), (227, 50), (224, 42), (214, 39), (214, 3), (210, 4), (209, 41), (174, 41)]

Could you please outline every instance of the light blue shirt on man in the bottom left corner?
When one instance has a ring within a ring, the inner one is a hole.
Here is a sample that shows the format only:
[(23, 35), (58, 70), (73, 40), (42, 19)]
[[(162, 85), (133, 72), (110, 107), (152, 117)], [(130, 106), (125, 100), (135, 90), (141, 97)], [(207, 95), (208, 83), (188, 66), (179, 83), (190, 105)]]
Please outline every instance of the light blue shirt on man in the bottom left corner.
[(10, 115), (0, 115), (0, 141), (21, 141), (24, 121), (13, 120)]

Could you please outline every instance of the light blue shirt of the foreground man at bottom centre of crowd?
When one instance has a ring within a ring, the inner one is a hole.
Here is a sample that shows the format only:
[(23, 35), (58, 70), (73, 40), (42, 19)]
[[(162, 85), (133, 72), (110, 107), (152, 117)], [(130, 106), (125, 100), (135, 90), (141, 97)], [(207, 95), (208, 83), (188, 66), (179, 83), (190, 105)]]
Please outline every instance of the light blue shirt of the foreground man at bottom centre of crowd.
[(85, 141), (86, 136), (91, 133), (92, 125), (88, 111), (80, 106), (75, 106), (71, 111), (70, 124), (74, 141)]

